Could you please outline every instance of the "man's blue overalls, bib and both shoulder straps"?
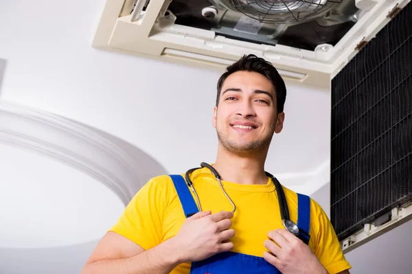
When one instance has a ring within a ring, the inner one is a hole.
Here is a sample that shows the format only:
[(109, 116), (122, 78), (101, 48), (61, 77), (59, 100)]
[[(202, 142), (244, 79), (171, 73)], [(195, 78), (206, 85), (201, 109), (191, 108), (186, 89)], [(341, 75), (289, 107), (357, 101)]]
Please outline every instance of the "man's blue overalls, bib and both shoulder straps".
[[(179, 195), (183, 212), (186, 218), (196, 214), (198, 207), (192, 194), (181, 175), (170, 175), (174, 187)], [(310, 198), (298, 193), (298, 220), (299, 229), (304, 230), (309, 235), (310, 228)], [(263, 242), (262, 242), (263, 245)], [(262, 257), (251, 256), (232, 251), (218, 253), (210, 258), (199, 262), (192, 262), (190, 269), (191, 274), (227, 274), (227, 273), (244, 273), (244, 274), (279, 274), (279, 270), (272, 264), (269, 264)]]

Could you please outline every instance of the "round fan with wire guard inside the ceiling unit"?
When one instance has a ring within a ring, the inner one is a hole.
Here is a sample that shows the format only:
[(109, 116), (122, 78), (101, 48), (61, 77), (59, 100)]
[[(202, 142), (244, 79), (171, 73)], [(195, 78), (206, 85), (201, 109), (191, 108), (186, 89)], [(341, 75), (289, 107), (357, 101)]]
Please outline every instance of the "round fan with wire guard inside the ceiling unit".
[(262, 23), (306, 21), (328, 12), (342, 0), (229, 0), (231, 7)]

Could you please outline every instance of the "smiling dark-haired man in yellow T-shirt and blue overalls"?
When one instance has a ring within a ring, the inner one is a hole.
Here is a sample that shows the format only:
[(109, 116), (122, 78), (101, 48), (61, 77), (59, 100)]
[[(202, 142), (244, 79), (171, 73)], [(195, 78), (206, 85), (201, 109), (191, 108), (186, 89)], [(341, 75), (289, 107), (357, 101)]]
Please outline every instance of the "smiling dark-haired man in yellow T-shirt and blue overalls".
[[(218, 81), (213, 116), (219, 140), (213, 168), (222, 185), (207, 167), (190, 173), (196, 195), (187, 193), (199, 212), (185, 216), (172, 176), (152, 178), (82, 273), (349, 273), (318, 203), (308, 198), (308, 245), (282, 225), (264, 162), (273, 134), (282, 131), (285, 99), (284, 81), (269, 62), (247, 55), (229, 66)], [(299, 223), (303, 206), (295, 192), (283, 190), (290, 220)]]

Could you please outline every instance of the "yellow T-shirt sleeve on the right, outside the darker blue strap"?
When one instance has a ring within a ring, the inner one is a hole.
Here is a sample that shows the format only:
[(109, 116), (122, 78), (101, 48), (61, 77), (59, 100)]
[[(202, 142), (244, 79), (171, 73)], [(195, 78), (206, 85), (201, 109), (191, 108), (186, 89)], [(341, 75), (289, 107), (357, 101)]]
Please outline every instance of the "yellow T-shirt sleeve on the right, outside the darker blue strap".
[(329, 274), (336, 274), (351, 269), (352, 267), (343, 255), (338, 237), (328, 216), (314, 200), (312, 200), (312, 208), (317, 218), (317, 222), (314, 223), (318, 225), (316, 227), (318, 234), (315, 236), (317, 245), (315, 246), (314, 254), (319, 258), (319, 261)]

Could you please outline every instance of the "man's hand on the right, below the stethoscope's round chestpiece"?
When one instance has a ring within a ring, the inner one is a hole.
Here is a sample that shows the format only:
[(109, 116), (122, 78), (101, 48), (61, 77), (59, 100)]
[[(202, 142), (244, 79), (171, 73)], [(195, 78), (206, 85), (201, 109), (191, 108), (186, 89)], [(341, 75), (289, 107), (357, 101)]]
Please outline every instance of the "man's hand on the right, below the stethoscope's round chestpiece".
[[(264, 259), (284, 274), (327, 274), (328, 271), (314, 256), (308, 245), (285, 229), (268, 232), (264, 241)], [(275, 243), (276, 242), (276, 243)]]

